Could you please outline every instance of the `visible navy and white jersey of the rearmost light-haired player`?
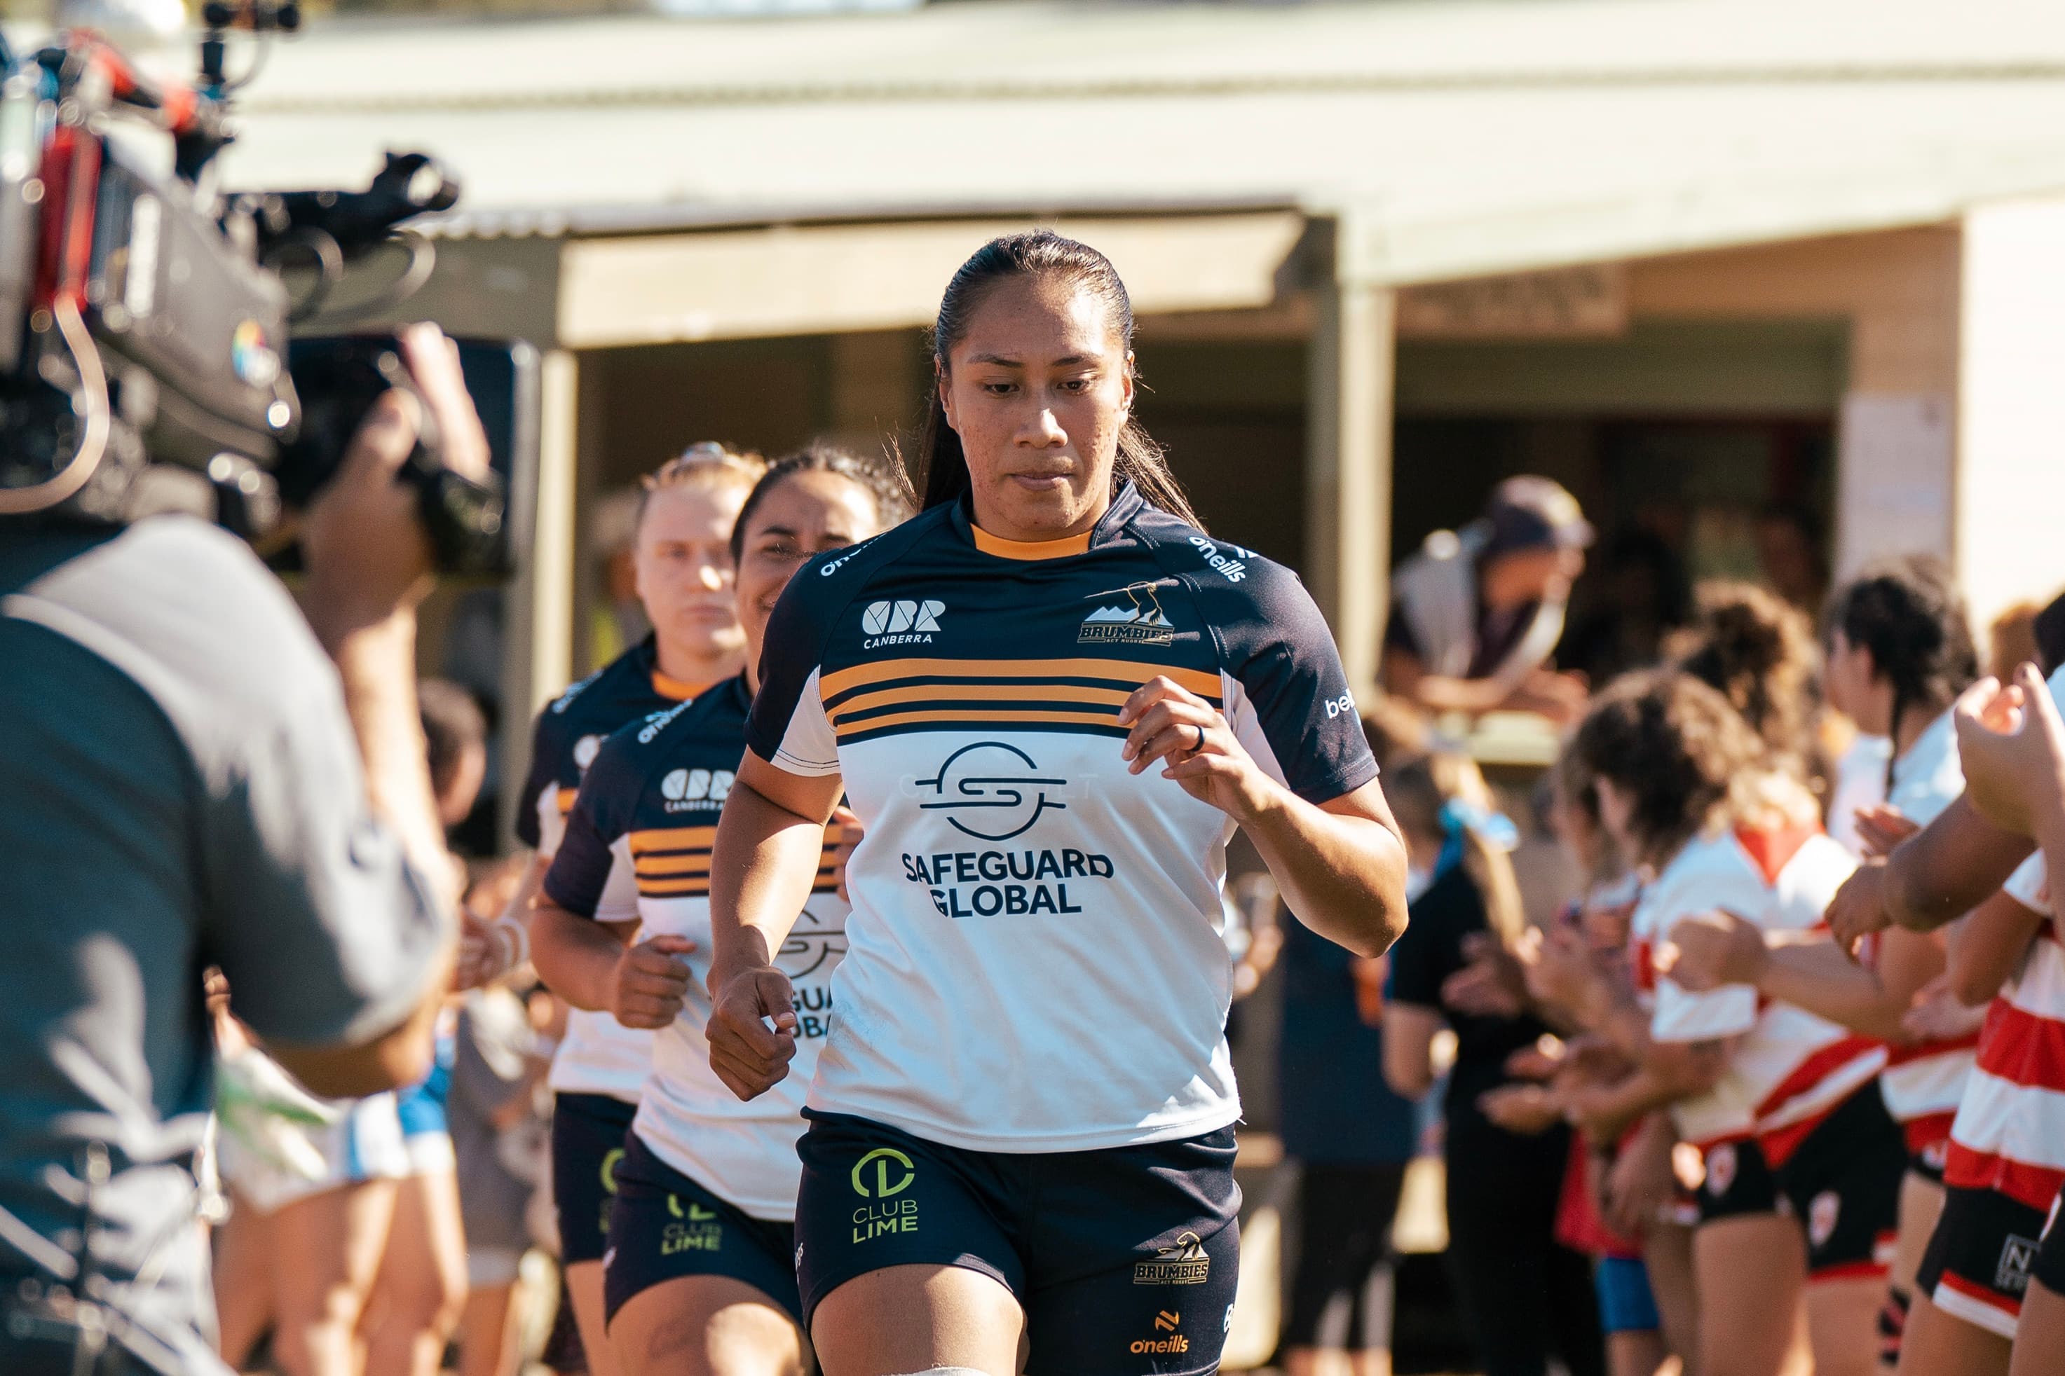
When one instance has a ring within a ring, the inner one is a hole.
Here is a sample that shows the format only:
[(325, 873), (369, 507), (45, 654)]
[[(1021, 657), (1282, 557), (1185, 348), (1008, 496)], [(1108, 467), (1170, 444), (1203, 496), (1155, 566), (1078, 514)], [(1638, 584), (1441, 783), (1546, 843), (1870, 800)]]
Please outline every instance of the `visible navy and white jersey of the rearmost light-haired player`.
[[(694, 685), (659, 673), (659, 650), (646, 635), (547, 703), (531, 732), (531, 778), (525, 782), (525, 807), (516, 809), (522, 844), (541, 856), (560, 850), (580, 776), (609, 732), (694, 693)], [(650, 1060), (650, 1031), (626, 1027), (607, 1013), (572, 1009), (566, 1038), (551, 1058), (549, 1083), (562, 1093), (607, 1093), (636, 1104)]]

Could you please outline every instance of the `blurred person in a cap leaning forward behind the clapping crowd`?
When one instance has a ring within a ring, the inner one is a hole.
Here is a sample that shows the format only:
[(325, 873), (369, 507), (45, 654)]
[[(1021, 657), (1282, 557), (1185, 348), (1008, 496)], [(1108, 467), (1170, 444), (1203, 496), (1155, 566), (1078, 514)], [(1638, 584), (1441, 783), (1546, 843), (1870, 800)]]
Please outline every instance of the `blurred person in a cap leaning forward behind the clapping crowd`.
[(1576, 716), (1584, 681), (1547, 664), (1590, 543), (1557, 483), (1499, 483), (1483, 518), (1435, 530), (1392, 576), (1384, 685), (1429, 712)]

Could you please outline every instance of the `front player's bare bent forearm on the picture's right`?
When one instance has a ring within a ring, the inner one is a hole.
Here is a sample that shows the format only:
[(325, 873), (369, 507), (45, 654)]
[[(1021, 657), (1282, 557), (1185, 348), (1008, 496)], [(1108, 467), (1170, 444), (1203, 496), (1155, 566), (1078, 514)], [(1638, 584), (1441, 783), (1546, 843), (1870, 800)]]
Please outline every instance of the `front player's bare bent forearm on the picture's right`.
[(1289, 790), (1276, 790), (1241, 827), (1311, 930), (1357, 955), (1384, 955), (1406, 930), (1406, 848), (1392, 827)]

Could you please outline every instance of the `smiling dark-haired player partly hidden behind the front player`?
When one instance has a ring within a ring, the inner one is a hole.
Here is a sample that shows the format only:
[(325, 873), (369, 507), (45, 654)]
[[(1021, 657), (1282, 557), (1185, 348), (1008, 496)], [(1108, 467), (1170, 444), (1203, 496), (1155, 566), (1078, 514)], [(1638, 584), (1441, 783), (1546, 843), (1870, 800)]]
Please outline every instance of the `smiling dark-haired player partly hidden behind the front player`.
[[(760, 642), (774, 598), (809, 555), (909, 516), (884, 464), (830, 448), (760, 479), (731, 532), (745, 673), (603, 743), (545, 873), (539, 968), (570, 1003), (657, 1027), (632, 1137), (615, 1168), (603, 1296), (628, 1376), (787, 1376), (803, 1370), (795, 1293), (795, 1139), (803, 1083), (741, 1104), (702, 1038), (710, 949), (710, 840), (745, 753)], [(845, 951), (836, 846), (783, 945), (803, 1005), (807, 1077)], [(593, 918), (593, 920), (591, 920)], [(555, 937), (545, 939), (543, 930)], [(634, 932), (642, 941), (630, 947)]]

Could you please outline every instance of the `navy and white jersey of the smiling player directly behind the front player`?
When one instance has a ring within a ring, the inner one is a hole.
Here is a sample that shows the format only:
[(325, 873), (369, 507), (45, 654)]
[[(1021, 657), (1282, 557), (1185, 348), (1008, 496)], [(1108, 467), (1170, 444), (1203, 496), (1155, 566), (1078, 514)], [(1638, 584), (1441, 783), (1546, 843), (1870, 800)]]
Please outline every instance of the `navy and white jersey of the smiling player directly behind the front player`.
[(809, 904), (774, 953), (795, 984), (797, 1046), (787, 1081), (741, 1104), (710, 1069), (710, 844), (745, 755), (745, 679), (655, 712), (603, 743), (545, 873), (545, 893), (640, 937), (688, 937), (681, 1015), (653, 1034), (653, 1069), (632, 1131), (653, 1155), (756, 1219), (795, 1217), (803, 1089), (832, 1021), (832, 970), (847, 951), (847, 904), (828, 838)]

